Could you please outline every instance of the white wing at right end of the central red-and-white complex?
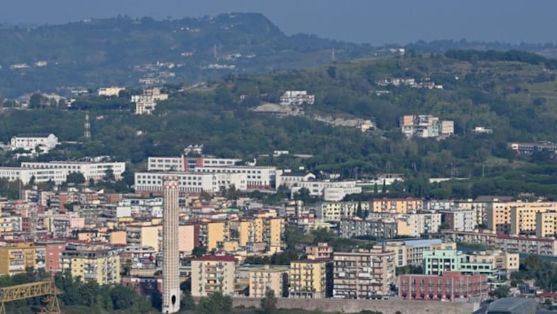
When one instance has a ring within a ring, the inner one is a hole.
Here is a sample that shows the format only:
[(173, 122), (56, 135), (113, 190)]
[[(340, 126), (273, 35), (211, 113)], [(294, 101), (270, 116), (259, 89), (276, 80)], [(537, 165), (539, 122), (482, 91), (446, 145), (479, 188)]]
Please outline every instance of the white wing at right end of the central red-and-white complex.
[[(243, 174), (247, 189), (269, 189), (274, 187), (276, 167), (228, 166), (195, 167), (194, 172), (212, 174)], [(238, 186), (238, 185), (236, 185)]]

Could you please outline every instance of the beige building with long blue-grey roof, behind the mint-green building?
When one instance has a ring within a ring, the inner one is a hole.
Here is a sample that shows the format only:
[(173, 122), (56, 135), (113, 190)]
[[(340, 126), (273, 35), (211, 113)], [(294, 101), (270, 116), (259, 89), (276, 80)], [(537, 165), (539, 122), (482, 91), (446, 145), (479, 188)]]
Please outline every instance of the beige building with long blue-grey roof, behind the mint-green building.
[(387, 251), (395, 253), (396, 267), (423, 265), (423, 252), (435, 249), (456, 249), (455, 243), (442, 242), (441, 239), (421, 239), (385, 242)]

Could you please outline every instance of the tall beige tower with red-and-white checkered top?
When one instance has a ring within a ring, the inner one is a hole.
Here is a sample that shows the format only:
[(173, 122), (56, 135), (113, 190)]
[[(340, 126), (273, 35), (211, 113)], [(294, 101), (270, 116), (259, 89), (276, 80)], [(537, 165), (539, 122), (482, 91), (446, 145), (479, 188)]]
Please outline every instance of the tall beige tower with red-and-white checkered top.
[(162, 313), (180, 311), (180, 258), (178, 256), (178, 176), (162, 180)]

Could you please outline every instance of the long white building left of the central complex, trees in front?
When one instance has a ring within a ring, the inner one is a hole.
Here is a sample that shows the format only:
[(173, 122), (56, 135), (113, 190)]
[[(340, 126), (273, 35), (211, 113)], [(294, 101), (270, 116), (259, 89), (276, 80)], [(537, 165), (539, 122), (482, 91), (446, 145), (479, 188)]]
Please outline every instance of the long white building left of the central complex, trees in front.
[(107, 170), (109, 169), (112, 170), (114, 179), (122, 179), (122, 174), (126, 170), (126, 164), (74, 161), (51, 161), (49, 163), (24, 162), (22, 163), (22, 168), (63, 170), (65, 172), (65, 176), (68, 176), (68, 174), (72, 172), (81, 172), (86, 181), (89, 181), (91, 179), (95, 181), (101, 181), (107, 173)]

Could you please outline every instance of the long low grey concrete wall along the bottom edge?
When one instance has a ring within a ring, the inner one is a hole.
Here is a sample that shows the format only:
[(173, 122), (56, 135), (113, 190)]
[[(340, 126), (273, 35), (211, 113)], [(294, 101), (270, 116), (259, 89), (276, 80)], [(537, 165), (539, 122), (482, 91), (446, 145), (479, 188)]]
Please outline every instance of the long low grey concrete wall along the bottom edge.
[[(234, 306), (260, 307), (260, 299), (234, 298)], [(324, 312), (358, 313), (363, 310), (380, 311), (383, 314), (470, 314), (479, 309), (479, 304), (444, 301), (384, 301), (354, 299), (288, 299), (279, 298), (278, 308), (304, 308)]]

